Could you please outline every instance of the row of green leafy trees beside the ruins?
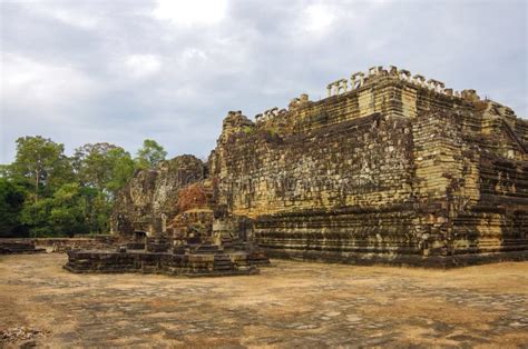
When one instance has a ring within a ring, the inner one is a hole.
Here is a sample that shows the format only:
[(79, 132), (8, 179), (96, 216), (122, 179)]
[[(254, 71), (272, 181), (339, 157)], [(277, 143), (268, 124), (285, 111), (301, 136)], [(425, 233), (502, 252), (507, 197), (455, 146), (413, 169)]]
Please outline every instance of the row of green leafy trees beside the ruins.
[(166, 154), (146, 139), (135, 158), (110, 143), (85, 144), (68, 157), (51, 139), (21, 137), (14, 161), (0, 166), (0, 237), (108, 232), (119, 189)]

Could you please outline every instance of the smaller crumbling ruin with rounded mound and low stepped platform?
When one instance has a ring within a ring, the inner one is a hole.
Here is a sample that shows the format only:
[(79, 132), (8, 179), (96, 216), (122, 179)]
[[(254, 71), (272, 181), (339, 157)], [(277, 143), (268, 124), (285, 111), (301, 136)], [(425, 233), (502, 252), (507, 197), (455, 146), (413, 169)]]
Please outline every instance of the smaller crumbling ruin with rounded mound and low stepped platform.
[(214, 235), (213, 187), (207, 166), (193, 156), (136, 173), (120, 191), (113, 213), (114, 249), (74, 249), (72, 272), (144, 272), (172, 276), (234, 276), (270, 265), (251, 241)]

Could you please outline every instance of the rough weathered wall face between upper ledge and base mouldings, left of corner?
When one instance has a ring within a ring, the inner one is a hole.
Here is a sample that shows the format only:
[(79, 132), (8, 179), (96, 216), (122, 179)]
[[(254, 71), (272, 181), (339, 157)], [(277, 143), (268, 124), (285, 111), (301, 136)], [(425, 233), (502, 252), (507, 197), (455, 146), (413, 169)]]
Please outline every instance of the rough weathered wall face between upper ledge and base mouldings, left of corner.
[[(234, 215), (383, 207), (410, 195), (411, 127), (372, 114), (280, 137), (265, 130), (223, 144), (218, 203)], [(248, 193), (248, 195), (247, 195)]]

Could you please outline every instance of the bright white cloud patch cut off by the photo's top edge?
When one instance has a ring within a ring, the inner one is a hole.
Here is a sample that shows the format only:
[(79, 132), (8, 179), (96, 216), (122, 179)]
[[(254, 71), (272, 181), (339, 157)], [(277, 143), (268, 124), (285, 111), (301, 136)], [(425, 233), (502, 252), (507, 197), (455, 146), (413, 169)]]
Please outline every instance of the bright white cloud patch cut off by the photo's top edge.
[(227, 0), (158, 0), (153, 16), (175, 24), (215, 24), (226, 17)]

